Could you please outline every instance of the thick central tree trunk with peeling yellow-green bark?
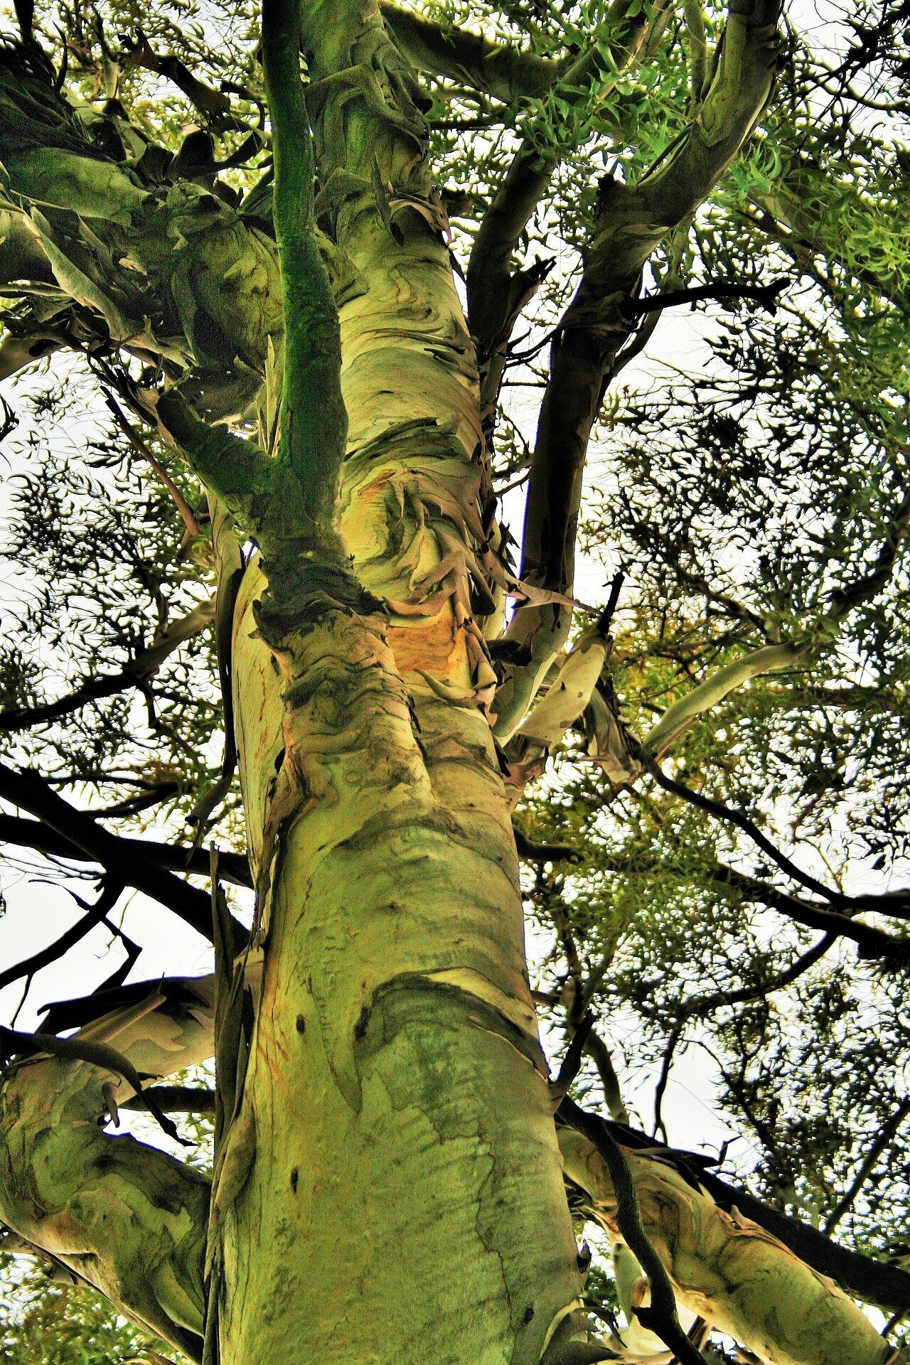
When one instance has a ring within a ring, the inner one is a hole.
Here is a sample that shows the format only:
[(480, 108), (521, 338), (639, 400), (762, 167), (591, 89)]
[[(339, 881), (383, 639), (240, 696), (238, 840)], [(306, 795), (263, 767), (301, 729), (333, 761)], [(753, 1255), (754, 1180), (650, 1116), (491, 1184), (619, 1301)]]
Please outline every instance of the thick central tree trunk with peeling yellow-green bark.
[(419, 93), (378, 14), (307, 5), (304, 41), (355, 272), (340, 526), (386, 613), (292, 610), (267, 556), (271, 624), (255, 579), (239, 603), (265, 972), (216, 1179), (220, 1358), (293, 1342), (299, 1365), (531, 1365), (580, 1280), (479, 708), (473, 348)]

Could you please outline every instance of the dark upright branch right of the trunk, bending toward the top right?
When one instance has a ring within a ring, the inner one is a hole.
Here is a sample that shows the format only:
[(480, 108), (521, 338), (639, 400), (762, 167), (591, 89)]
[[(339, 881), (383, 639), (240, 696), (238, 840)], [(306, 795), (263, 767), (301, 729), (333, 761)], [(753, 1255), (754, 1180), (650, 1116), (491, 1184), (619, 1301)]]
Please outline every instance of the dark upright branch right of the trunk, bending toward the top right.
[[(634, 186), (604, 177), (585, 268), (551, 348), (525, 502), (521, 577), (570, 592), (581, 478), (591, 430), (611, 366), (630, 322), (633, 298), (658, 243), (705, 199), (752, 132), (774, 89), (779, 53), (778, 0), (731, 7), (714, 76), (686, 131)], [(497, 736), (520, 723), (550, 661), (563, 647), (570, 612), (528, 607), (508, 637), (527, 644), (531, 662), (508, 665), (497, 691)]]

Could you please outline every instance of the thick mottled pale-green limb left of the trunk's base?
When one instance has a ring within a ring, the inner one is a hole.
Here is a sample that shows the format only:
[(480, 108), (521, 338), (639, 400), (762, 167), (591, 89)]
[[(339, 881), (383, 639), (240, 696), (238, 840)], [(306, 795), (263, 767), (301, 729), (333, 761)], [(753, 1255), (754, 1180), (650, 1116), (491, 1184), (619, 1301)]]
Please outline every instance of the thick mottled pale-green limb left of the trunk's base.
[(0, 1220), (198, 1360), (209, 1182), (154, 1147), (101, 1132), (119, 1084), (55, 1058), (14, 1070), (0, 1089)]

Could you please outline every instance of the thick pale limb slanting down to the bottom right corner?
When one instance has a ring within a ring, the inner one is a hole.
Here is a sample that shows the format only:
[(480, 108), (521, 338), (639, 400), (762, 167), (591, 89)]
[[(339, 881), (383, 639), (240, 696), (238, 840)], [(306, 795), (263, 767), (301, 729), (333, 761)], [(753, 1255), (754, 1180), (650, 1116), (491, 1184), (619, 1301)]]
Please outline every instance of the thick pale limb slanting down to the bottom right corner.
[[(559, 1130), (566, 1175), (622, 1244), (606, 1163), (574, 1129)], [(726, 1213), (659, 1156), (625, 1159), (648, 1241), (679, 1304), (763, 1365), (884, 1365), (892, 1349), (834, 1280), (819, 1275), (748, 1218)]]

